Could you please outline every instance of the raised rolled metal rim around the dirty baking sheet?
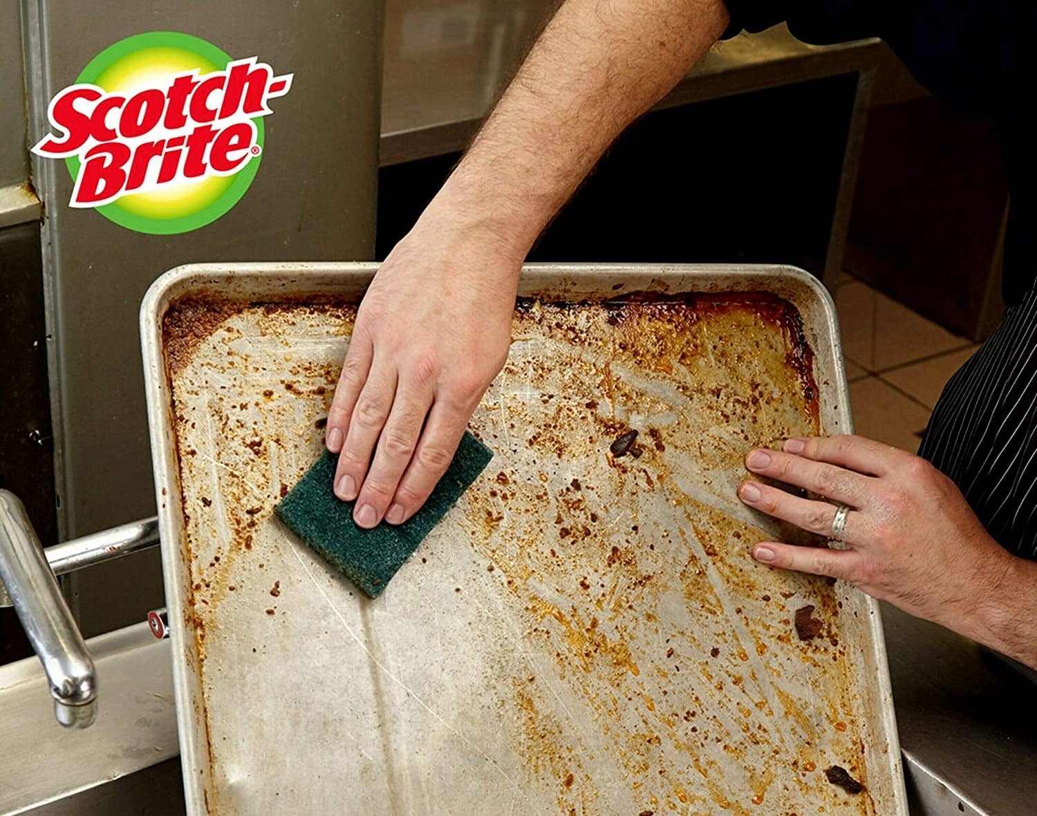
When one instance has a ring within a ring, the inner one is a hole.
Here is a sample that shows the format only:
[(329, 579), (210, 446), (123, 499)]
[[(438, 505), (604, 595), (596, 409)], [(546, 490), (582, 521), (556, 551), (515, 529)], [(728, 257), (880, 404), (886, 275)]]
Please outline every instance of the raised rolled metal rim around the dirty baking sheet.
[[(176, 442), (171, 417), (168, 374), (163, 350), (162, 327), (167, 308), (189, 292), (208, 291), (226, 300), (248, 302), (257, 297), (302, 292), (356, 299), (363, 296), (374, 273), (374, 262), (249, 262), (193, 263), (176, 266), (158, 278), (147, 290), (140, 309), (141, 345), (156, 482), (156, 500), (162, 539), (165, 589), (172, 637), (173, 683), (177, 730), (185, 769), (188, 812), (206, 813), (204, 775), (195, 768), (206, 765), (206, 745), (199, 744), (193, 706), (199, 694), (191, 665), (191, 638), (185, 635), (185, 598), (181, 570), (186, 554), (184, 517), (179, 507), (179, 475)], [(822, 392), (822, 427), (825, 432), (851, 433), (848, 387), (842, 364), (835, 305), (828, 289), (814, 276), (783, 264), (637, 264), (637, 263), (534, 263), (523, 269), (518, 296), (569, 300), (597, 293), (604, 280), (621, 277), (629, 290), (660, 292), (766, 291), (785, 298), (805, 312), (814, 304), (815, 319), (804, 316), (807, 341), (815, 354), (825, 348), (834, 362), (826, 372)], [(819, 318), (819, 319), (818, 319)], [(819, 377), (820, 379), (820, 377)], [(820, 383), (819, 383), (820, 386)], [(862, 593), (863, 594), (863, 593)], [(880, 732), (887, 740), (893, 775), (896, 816), (907, 816), (902, 761), (892, 701), (892, 688), (877, 601), (865, 595), (869, 613), (875, 683), (881, 700)]]

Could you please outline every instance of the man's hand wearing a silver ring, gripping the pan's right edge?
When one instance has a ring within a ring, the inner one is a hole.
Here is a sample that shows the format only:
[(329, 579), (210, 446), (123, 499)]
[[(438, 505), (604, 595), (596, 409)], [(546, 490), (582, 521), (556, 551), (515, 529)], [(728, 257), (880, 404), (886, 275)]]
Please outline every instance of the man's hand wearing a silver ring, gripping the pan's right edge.
[[(830, 575), (1037, 666), (1037, 566), (994, 541), (955, 484), (924, 459), (861, 437), (791, 439), (753, 450), (753, 473), (851, 509), (845, 550), (762, 541), (758, 561)], [(836, 504), (745, 481), (750, 507), (829, 535)], [(1018, 612), (1018, 614), (1016, 614)]]

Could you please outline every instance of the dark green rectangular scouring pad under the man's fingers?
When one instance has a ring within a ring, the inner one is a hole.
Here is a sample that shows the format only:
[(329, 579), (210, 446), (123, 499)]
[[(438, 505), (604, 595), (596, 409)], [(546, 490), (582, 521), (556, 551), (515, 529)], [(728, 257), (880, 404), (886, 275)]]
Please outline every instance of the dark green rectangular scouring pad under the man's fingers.
[(401, 525), (383, 522), (365, 530), (353, 520), (355, 502), (343, 502), (332, 490), (338, 456), (325, 451), (275, 512), (329, 564), (374, 598), (493, 456), (489, 448), (465, 431), (453, 461), (418, 512)]

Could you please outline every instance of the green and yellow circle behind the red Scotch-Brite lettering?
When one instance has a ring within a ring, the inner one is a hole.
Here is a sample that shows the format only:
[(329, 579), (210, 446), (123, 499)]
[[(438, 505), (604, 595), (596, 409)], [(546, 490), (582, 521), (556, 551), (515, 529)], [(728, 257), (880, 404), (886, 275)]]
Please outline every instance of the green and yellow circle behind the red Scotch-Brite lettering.
[[(106, 91), (140, 85), (145, 78), (153, 87), (166, 77), (198, 68), (199, 74), (223, 71), (231, 57), (211, 43), (177, 31), (151, 31), (120, 39), (86, 65), (76, 83), (89, 83)], [(153, 76), (152, 76), (153, 75)], [(256, 139), (263, 144), (261, 116), (253, 119)], [(233, 175), (188, 181), (169, 190), (132, 193), (95, 207), (109, 221), (136, 232), (174, 235), (212, 224), (236, 204), (255, 178), (262, 153), (254, 156)], [(65, 159), (72, 177), (79, 175), (78, 156)]]

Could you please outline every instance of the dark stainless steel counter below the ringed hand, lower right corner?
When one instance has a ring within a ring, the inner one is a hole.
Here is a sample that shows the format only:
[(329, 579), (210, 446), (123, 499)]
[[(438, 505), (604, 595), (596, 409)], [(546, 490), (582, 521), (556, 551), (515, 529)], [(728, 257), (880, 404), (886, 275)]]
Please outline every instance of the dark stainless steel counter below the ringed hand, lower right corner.
[(886, 603), (882, 622), (913, 816), (1033, 816), (1037, 685)]

